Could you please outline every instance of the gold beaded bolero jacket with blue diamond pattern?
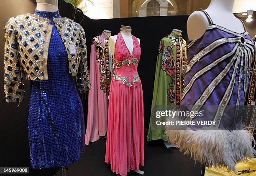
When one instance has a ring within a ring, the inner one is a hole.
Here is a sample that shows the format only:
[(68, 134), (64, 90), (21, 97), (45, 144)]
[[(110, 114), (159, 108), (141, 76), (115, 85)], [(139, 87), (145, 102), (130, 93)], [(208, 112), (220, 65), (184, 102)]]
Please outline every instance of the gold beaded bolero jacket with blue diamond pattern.
[[(69, 73), (76, 77), (79, 92), (84, 93), (91, 89), (84, 30), (66, 17), (55, 18), (54, 23), (67, 50)], [(48, 79), (47, 57), (52, 27), (48, 19), (33, 14), (12, 17), (7, 22), (4, 28), (4, 90), (7, 102), (23, 101), (23, 76), (36, 81)]]

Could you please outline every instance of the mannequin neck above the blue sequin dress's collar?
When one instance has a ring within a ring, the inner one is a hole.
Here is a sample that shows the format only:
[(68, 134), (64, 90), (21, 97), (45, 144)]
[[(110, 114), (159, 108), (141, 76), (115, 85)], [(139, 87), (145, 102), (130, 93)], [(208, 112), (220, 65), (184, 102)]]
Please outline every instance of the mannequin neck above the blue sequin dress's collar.
[(36, 9), (47, 12), (58, 11), (58, 0), (36, 0)]

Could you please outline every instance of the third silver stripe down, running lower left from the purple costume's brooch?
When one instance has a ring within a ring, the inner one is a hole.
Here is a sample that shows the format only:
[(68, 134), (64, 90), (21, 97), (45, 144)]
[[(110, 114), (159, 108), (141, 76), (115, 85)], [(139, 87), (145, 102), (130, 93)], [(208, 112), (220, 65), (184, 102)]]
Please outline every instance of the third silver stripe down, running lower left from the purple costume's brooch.
[[(212, 82), (208, 85), (208, 87), (205, 89), (205, 91), (202, 93), (200, 98), (195, 102), (195, 105), (192, 107), (191, 111), (199, 111), (202, 107), (202, 105), (206, 102), (206, 100), (209, 98), (210, 94), (214, 91), (215, 87), (220, 84), (222, 79), (227, 75), (230, 68), (233, 66), (235, 60), (238, 57), (239, 50), (241, 48), (238, 47), (236, 50), (236, 54), (233, 56), (232, 60), (226, 65), (226, 67), (218, 74), (215, 79), (212, 80)], [(187, 117), (186, 120), (192, 120), (190, 117)]]

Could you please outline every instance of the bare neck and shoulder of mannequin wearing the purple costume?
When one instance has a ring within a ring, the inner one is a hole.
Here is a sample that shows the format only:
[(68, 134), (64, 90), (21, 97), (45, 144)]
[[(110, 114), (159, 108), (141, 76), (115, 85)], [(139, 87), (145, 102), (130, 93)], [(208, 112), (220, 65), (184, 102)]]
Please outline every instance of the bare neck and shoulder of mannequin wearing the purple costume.
[[(242, 22), (233, 14), (235, 0), (211, 0), (205, 10), (215, 25), (225, 27), (233, 32), (242, 33), (244, 27)], [(218, 10), (218, 13), (216, 13)], [(189, 40), (196, 40), (202, 37), (207, 30), (209, 22), (203, 12), (193, 12), (187, 21), (187, 33)], [(199, 27), (200, 26), (200, 27)]]

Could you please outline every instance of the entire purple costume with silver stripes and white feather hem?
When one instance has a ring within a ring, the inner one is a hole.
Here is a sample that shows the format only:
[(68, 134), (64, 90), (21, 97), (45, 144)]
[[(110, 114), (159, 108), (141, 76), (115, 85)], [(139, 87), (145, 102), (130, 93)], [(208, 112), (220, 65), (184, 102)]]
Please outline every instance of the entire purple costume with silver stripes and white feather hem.
[(210, 25), (202, 37), (188, 45), (189, 63), (181, 104), (191, 105), (190, 112), (207, 107), (202, 117), (186, 120), (216, 123), (203, 129), (200, 127), (205, 126), (198, 129), (189, 125), (186, 130), (167, 126), (166, 133), (171, 144), (200, 163), (236, 171), (239, 161), (256, 154), (253, 136), (240, 129), (240, 105), (245, 103), (255, 46), (248, 32), (239, 34), (215, 25), (203, 12)]

